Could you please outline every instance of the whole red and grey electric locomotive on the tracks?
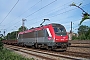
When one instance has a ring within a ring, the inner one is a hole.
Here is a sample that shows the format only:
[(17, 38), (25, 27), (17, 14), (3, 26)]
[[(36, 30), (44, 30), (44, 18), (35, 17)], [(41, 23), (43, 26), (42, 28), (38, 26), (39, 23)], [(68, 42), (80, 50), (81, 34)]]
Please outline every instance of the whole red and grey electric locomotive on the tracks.
[(34, 48), (66, 50), (68, 35), (63, 25), (52, 23), (19, 32), (17, 41), (19, 45), (32, 46)]

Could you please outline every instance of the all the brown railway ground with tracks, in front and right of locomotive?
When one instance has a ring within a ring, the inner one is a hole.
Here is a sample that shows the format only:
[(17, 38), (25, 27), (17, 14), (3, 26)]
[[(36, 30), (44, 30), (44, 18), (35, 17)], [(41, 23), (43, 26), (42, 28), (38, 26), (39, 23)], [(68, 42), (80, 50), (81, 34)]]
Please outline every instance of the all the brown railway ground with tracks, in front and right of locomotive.
[[(67, 51), (48, 51), (42, 49), (32, 49), (19, 47), (15, 45), (5, 45), (6, 48), (12, 49), (14, 51), (18, 51), (19, 54), (24, 56), (31, 56), (31, 58), (35, 59), (45, 59), (45, 60), (58, 60), (58, 59), (81, 59), (81, 60), (89, 60), (90, 59), (90, 40), (71, 40), (69, 41), (71, 45), (67, 48)], [(45, 53), (44, 53), (45, 52)], [(39, 56), (40, 55), (40, 56)]]

